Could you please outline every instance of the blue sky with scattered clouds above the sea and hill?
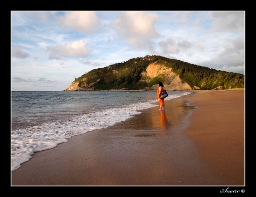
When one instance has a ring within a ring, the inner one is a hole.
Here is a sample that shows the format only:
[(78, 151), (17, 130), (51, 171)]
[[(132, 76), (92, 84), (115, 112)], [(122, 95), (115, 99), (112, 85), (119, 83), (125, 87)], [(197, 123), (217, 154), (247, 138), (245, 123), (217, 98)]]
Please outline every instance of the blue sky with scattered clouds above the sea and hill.
[(245, 11), (11, 11), (11, 87), (61, 91), (146, 55), (244, 74), (244, 43)]

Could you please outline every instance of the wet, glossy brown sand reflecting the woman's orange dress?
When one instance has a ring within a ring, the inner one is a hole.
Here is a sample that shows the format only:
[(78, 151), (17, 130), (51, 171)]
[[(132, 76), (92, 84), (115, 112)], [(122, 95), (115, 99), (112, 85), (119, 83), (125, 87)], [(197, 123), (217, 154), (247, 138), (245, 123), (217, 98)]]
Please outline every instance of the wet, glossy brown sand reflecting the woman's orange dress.
[(196, 95), (166, 101), (165, 113), (139, 110), (129, 120), (36, 152), (12, 171), (12, 185), (229, 185), (205, 165), (198, 142), (187, 135)]

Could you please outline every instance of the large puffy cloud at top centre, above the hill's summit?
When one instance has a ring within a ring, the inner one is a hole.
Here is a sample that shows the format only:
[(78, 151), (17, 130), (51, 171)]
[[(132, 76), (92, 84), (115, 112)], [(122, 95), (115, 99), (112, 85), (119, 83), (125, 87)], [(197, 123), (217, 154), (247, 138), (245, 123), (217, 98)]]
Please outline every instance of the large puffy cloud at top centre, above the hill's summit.
[(111, 27), (116, 29), (120, 37), (124, 37), (129, 46), (135, 46), (137, 49), (151, 48), (150, 38), (157, 37), (155, 24), (158, 15), (147, 12), (123, 12)]

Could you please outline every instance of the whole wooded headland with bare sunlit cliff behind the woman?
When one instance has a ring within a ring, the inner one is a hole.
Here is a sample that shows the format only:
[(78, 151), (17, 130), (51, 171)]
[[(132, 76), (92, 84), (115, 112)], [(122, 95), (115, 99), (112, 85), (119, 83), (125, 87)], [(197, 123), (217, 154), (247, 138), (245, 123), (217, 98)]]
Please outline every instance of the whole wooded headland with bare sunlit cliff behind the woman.
[(217, 71), (161, 56), (132, 58), (96, 68), (75, 78), (63, 91), (140, 90), (156, 91), (158, 81), (168, 91), (227, 89), (244, 87), (244, 75)]

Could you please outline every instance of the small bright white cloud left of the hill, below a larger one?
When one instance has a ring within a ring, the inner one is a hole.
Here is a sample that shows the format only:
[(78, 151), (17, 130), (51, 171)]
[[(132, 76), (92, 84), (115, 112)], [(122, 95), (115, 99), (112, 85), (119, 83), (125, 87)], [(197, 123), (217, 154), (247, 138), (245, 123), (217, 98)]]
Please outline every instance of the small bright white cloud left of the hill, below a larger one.
[(61, 57), (86, 57), (92, 49), (87, 47), (84, 40), (68, 42), (67, 44), (57, 45), (55, 47), (47, 46), (47, 51), (50, 51), (50, 59), (61, 59)]

